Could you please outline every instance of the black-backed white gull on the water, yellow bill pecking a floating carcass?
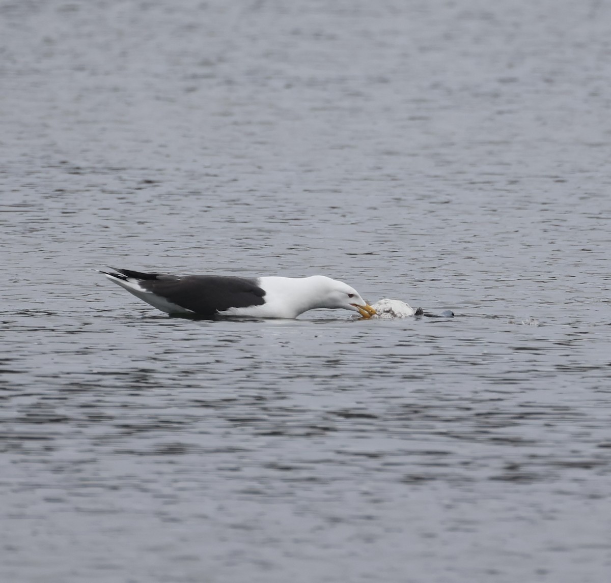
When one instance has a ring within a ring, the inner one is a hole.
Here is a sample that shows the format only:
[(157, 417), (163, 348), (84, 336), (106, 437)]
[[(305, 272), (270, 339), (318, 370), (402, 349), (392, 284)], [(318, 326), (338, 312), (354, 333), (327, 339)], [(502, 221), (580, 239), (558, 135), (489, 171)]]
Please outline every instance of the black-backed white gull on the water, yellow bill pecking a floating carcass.
[(315, 308), (343, 308), (364, 318), (376, 313), (356, 289), (324, 275), (244, 278), (165, 275), (116, 269), (109, 280), (159, 310), (183, 316), (296, 318)]

